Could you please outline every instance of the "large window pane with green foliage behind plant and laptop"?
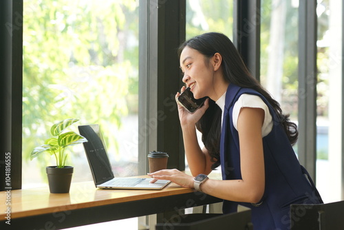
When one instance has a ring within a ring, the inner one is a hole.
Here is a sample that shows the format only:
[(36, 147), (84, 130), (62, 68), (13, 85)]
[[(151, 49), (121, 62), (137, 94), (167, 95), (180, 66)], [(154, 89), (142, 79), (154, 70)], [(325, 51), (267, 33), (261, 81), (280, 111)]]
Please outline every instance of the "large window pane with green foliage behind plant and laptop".
[[(25, 1), (23, 19), (23, 187), (45, 181), (54, 157), (30, 152), (65, 118), (99, 124), (114, 174), (137, 175), (138, 1)], [(92, 180), (83, 145), (66, 151)]]

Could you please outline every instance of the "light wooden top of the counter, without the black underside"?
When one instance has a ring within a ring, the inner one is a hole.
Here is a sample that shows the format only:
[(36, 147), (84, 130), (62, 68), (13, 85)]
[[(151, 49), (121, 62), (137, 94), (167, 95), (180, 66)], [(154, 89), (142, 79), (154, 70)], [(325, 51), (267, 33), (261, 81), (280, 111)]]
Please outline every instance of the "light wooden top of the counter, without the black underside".
[[(72, 183), (69, 194), (50, 194), (48, 187), (12, 190), (11, 219), (190, 192), (193, 189), (185, 189), (174, 183), (162, 190), (96, 189), (93, 181)], [(6, 196), (6, 191), (0, 192), (0, 200), (3, 200), (0, 210), (8, 207)], [(0, 219), (3, 218), (6, 218), (6, 213), (1, 211)]]

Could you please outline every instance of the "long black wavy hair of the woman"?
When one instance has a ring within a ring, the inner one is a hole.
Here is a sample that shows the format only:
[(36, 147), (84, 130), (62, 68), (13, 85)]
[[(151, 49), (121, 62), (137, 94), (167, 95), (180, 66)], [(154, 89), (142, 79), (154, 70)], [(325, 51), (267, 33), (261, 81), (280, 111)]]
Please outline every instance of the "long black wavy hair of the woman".
[[(256, 90), (263, 95), (268, 103), (275, 110), (279, 117), (279, 122), (283, 126), (291, 145), (297, 142), (299, 135), (297, 125), (292, 123), (289, 119), (289, 114), (283, 114), (281, 106), (275, 101), (272, 96), (261, 86), (259, 81), (252, 77), (248, 68), (235, 45), (230, 39), (221, 33), (209, 32), (195, 36), (180, 45), (178, 54), (182, 53), (184, 48), (189, 47), (197, 50), (207, 58), (211, 58), (215, 53), (222, 56), (222, 69), (224, 78), (228, 83), (233, 83), (239, 87), (250, 88)], [(211, 101), (206, 113), (202, 116), (200, 121), (196, 123), (197, 129), (202, 133), (202, 142), (214, 162), (213, 168), (219, 165), (219, 136), (221, 135), (221, 109)]]

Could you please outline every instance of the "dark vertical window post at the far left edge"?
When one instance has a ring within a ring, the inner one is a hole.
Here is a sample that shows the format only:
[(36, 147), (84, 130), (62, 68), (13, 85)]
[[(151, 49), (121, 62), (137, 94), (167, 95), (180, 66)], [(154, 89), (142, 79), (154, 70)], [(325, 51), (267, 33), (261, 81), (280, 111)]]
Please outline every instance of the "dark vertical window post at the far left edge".
[(23, 1), (1, 1), (0, 30), (0, 190), (21, 189)]

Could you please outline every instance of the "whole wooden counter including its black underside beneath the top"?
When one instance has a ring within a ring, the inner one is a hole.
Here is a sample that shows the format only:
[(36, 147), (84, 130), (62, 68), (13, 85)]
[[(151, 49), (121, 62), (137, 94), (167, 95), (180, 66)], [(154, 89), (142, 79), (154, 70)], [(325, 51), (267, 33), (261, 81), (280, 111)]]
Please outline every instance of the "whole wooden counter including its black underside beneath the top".
[(172, 182), (162, 190), (131, 190), (97, 189), (93, 181), (72, 183), (68, 194), (50, 194), (47, 185), (1, 191), (0, 200), (0, 226), (8, 229), (65, 229), (222, 201)]

